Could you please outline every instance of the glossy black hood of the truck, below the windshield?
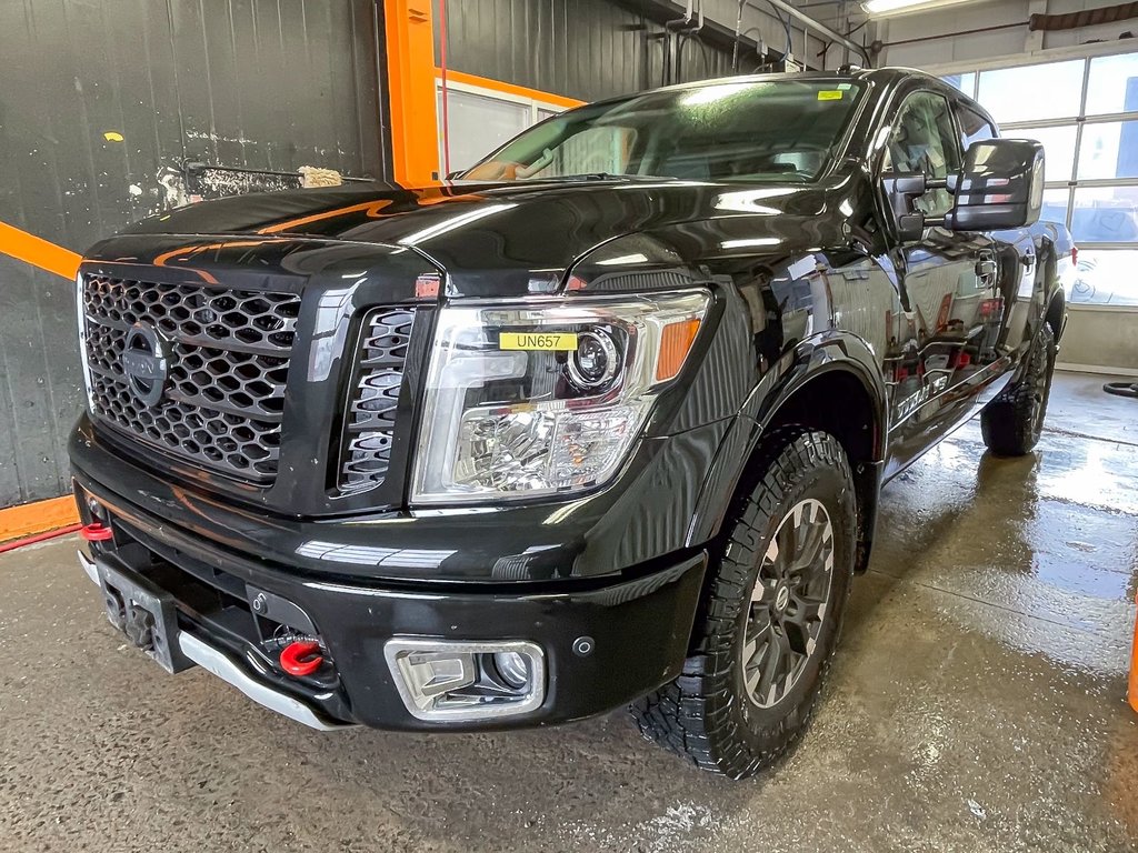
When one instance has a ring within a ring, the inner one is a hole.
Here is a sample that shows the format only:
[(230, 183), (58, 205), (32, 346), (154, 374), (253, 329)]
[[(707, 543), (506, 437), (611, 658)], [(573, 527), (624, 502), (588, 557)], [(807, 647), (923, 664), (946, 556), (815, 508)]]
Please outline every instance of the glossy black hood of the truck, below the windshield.
[[(447, 274), (451, 296), (498, 296), (549, 292), (576, 260), (621, 235), (725, 220), (732, 221), (721, 223), (728, 233), (761, 245), (770, 234), (790, 240), (803, 229), (816, 231), (823, 210), (825, 192), (816, 185), (667, 179), (455, 182), (418, 189), (369, 183), (205, 201), (143, 220), (124, 237), (137, 235), (132, 249), (146, 234), (258, 235), (414, 249)], [(98, 247), (104, 258), (114, 242)], [(681, 254), (695, 262), (699, 251), (688, 246)]]

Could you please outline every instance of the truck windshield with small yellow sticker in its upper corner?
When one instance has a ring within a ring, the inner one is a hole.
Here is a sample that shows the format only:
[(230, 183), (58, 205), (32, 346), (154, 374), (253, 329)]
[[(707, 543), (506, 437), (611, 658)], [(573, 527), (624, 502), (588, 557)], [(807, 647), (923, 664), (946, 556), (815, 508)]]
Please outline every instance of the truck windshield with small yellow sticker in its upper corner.
[(860, 94), (836, 80), (727, 81), (648, 92), (550, 118), (461, 176), (799, 181), (826, 167)]

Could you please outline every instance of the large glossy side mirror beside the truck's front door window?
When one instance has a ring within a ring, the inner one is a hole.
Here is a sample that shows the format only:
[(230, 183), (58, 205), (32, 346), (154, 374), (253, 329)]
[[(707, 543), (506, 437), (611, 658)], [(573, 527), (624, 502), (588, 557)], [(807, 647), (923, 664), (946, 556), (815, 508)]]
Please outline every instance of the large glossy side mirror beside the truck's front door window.
[(1044, 204), (1044, 147), (1025, 139), (973, 142), (950, 189), (956, 204), (945, 217), (946, 227), (1000, 231), (1032, 225)]

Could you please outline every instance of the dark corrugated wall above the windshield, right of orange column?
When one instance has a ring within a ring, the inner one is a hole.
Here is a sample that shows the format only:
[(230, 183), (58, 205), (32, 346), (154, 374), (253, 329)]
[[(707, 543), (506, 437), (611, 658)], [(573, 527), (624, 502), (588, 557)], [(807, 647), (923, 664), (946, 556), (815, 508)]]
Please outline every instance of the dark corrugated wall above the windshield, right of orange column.
[[(446, 0), (447, 65), (596, 100), (661, 84), (665, 42), (645, 33), (662, 28), (612, 0)], [(436, 25), (436, 56), (438, 39)], [(690, 40), (679, 67), (685, 81), (724, 76), (731, 51)]]

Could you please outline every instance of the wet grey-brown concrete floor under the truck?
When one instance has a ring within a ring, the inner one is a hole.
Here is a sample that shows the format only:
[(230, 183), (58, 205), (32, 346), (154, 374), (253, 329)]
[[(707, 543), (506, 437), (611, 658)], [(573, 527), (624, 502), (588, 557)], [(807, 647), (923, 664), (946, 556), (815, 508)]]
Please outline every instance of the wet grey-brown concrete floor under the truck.
[(748, 782), (622, 713), (310, 732), (127, 648), (75, 541), (0, 556), (0, 851), (1138, 850), (1138, 403), (1059, 375), (1030, 457), (970, 424), (887, 490), (828, 695)]

